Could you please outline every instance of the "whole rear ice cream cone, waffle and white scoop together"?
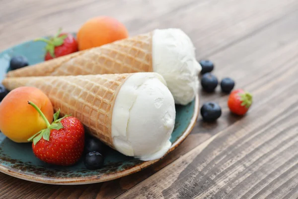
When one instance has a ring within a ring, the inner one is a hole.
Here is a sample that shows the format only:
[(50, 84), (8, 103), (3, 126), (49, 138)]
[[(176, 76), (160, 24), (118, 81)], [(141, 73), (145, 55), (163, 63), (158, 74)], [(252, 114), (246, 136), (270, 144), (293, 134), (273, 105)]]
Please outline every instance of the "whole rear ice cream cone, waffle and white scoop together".
[(175, 103), (185, 105), (198, 93), (200, 71), (191, 39), (182, 30), (169, 28), (10, 71), (7, 77), (156, 72), (165, 79)]

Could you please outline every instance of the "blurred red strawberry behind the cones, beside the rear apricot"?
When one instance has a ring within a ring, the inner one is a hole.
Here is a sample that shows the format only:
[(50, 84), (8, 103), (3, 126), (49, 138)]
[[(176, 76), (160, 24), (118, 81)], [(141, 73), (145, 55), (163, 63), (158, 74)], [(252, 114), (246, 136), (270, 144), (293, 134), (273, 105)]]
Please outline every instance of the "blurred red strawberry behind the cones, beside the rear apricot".
[(39, 38), (35, 39), (35, 41), (44, 41), (47, 43), (45, 61), (77, 51), (77, 42), (74, 36), (69, 33), (61, 33), (61, 29), (50, 39)]

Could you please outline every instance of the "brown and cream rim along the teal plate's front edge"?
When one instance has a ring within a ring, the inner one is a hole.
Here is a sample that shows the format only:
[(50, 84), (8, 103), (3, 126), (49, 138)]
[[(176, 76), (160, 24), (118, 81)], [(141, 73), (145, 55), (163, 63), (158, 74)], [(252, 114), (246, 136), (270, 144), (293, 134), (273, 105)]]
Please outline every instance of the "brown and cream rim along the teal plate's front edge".
[(130, 169), (120, 171), (117, 173), (112, 174), (106, 174), (102, 176), (88, 176), (88, 177), (74, 177), (74, 178), (57, 178), (57, 177), (41, 177), (36, 174), (26, 174), (26, 173), (20, 173), (21, 170), (13, 169), (13, 168), (7, 168), (3, 165), (0, 165), (0, 172), (7, 174), (9, 176), (35, 182), (35, 183), (42, 183), (42, 184), (49, 184), (49, 185), (85, 185), (85, 184), (94, 184), (94, 183), (101, 183), (106, 181), (115, 180), (118, 178), (122, 178), (125, 176), (128, 176), (130, 174), (139, 172), (145, 168), (148, 168), (149, 166), (155, 164), (156, 162), (163, 159), (166, 155), (168, 155), (170, 152), (172, 152), (174, 149), (176, 149), (190, 134), (192, 129), (194, 128), (197, 119), (199, 116), (199, 94), (196, 94), (195, 96), (195, 105), (194, 105), (194, 113), (192, 115), (192, 118), (190, 120), (189, 125), (183, 132), (183, 134), (172, 144), (171, 148), (168, 150), (168, 152), (160, 159), (157, 160), (151, 160), (141, 163), (140, 165), (136, 167), (132, 167)]

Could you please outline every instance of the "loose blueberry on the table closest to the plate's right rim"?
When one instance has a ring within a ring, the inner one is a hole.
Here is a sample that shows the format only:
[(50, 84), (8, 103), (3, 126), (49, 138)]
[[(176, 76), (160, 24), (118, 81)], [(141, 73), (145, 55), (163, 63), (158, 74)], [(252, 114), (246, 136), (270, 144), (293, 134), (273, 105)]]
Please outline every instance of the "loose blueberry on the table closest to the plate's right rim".
[(215, 102), (206, 102), (201, 107), (201, 115), (205, 121), (215, 121), (222, 115), (222, 108)]

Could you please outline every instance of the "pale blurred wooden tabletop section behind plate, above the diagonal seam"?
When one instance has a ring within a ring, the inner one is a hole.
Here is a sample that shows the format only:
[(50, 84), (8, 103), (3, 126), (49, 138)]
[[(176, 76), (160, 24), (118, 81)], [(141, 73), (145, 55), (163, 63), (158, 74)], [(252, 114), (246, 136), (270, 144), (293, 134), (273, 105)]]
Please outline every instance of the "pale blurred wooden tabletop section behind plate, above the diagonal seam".
[(232, 45), (298, 5), (297, 0), (26, 0), (24, 6), (2, 1), (6, 6), (0, 8), (0, 49), (54, 34), (58, 27), (77, 31), (92, 16), (110, 15), (122, 21), (131, 35), (182, 28), (193, 39), (198, 58)]

